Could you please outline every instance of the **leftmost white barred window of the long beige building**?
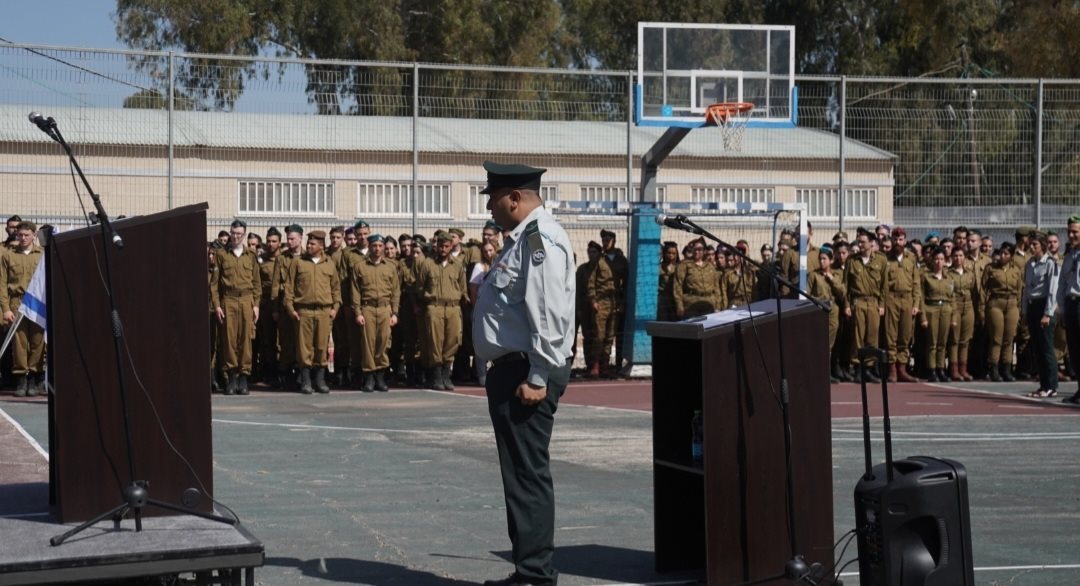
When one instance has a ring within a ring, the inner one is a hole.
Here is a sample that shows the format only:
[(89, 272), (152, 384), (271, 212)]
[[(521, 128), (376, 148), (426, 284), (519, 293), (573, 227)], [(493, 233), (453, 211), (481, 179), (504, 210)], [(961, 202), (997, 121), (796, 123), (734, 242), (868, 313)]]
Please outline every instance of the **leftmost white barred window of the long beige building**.
[(238, 186), (240, 214), (334, 214), (334, 183), (242, 180)]

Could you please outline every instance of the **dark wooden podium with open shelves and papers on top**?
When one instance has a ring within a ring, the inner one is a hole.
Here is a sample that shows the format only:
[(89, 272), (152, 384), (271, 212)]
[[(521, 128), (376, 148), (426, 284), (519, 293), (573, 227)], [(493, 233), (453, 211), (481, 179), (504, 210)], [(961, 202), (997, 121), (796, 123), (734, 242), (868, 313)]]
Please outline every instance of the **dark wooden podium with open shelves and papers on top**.
[[(784, 300), (799, 550), (833, 565), (828, 315)], [(753, 321), (738, 317), (753, 310)], [(760, 312), (760, 315), (758, 315)], [(788, 544), (775, 300), (696, 321), (650, 322), (658, 571), (704, 569), (707, 584), (784, 571)], [(690, 420), (704, 419), (704, 460)], [(779, 580), (770, 584), (787, 584)]]

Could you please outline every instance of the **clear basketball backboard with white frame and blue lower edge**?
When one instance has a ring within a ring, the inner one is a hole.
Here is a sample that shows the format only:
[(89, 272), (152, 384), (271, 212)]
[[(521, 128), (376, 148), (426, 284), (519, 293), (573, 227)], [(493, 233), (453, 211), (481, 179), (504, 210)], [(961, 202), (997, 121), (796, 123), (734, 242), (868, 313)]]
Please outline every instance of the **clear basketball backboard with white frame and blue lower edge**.
[(719, 101), (754, 104), (750, 126), (794, 126), (795, 27), (638, 23), (634, 121), (704, 124)]

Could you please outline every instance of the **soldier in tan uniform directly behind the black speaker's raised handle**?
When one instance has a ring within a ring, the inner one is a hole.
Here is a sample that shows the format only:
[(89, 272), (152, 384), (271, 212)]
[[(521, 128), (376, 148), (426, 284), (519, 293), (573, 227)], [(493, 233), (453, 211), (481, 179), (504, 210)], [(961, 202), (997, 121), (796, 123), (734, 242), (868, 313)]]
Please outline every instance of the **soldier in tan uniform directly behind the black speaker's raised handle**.
[[(859, 365), (859, 349), (879, 347), (878, 325), (885, 315), (885, 291), (889, 286), (889, 267), (885, 255), (874, 251), (870, 234), (862, 232), (858, 236), (859, 255), (848, 259), (843, 282), (848, 287), (848, 303), (845, 315), (854, 317), (851, 353), (852, 366)], [(880, 382), (874, 359), (866, 362), (863, 378), (867, 382)]]

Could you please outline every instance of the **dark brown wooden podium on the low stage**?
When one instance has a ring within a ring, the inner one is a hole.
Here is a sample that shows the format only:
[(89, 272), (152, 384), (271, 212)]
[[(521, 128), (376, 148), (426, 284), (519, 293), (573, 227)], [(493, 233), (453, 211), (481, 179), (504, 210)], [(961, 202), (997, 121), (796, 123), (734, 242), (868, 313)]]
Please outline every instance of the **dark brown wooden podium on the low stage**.
[[(136, 480), (181, 504), (213, 494), (206, 204), (117, 220), (112, 289), (123, 324), (121, 360)], [(91, 519), (121, 503), (131, 481), (113, 326), (97, 226), (56, 234), (49, 270), (50, 494), (60, 522)], [(130, 358), (129, 358), (130, 352)], [(152, 407), (151, 407), (152, 400)], [(160, 420), (160, 424), (159, 424)], [(203, 498), (195, 507), (211, 512)], [(148, 506), (144, 516), (175, 515)]]

